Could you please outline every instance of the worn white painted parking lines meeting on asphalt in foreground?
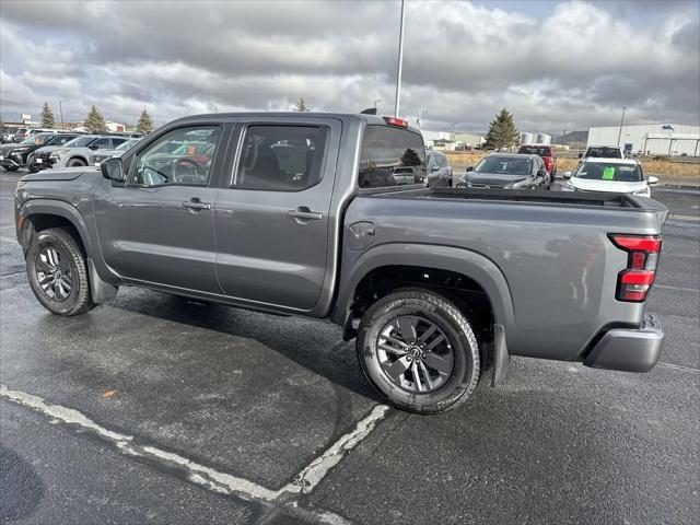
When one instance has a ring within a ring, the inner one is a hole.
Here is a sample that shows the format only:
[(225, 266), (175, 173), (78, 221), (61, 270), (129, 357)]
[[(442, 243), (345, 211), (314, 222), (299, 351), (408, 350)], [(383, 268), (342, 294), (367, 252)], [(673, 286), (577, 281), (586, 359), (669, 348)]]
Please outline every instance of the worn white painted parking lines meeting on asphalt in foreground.
[[(322, 509), (305, 509), (293, 499), (293, 494), (308, 493), (324, 479), (328, 471), (335, 467), (345, 455), (365, 439), (376, 424), (386, 417), (389, 407), (375, 406), (372, 411), (359, 421), (355, 428), (336, 441), (326, 452), (315, 458), (308, 466), (302, 469), (294, 480), (279, 490), (270, 490), (261, 485), (245, 478), (220, 472), (213, 468), (200, 465), (184, 456), (160, 450), (155, 446), (139, 445), (131, 435), (108, 430), (85, 415), (73, 408), (60, 405), (49, 405), (43, 398), (21, 390), (12, 390), (7, 385), (0, 384), (0, 397), (12, 402), (28, 407), (51, 419), (52, 422), (62, 422), (79, 427), (81, 431), (88, 431), (103, 441), (116, 446), (125, 454), (139, 456), (160, 465), (178, 468), (192, 483), (205, 487), (207, 490), (223, 494), (238, 494), (246, 499), (277, 503), (298, 512), (314, 521), (340, 525), (348, 523), (346, 518), (332, 512)], [(292, 497), (290, 499), (290, 497)]]

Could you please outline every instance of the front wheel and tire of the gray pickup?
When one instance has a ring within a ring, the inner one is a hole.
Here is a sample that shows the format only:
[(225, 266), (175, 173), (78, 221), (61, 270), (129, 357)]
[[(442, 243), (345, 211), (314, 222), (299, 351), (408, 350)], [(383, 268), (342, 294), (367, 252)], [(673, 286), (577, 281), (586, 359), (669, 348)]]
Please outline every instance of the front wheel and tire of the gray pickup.
[(85, 257), (66, 230), (44, 230), (32, 237), (26, 275), (37, 301), (51, 314), (68, 317), (94, 307)]

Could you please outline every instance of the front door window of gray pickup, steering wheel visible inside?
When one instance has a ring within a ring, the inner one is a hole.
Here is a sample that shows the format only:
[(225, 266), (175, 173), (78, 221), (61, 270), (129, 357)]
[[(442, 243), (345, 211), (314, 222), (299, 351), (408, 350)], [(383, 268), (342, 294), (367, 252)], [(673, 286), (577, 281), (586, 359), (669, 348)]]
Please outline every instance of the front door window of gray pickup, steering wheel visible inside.
[(220, 136), (219, 126), (168, 131), (136, 155), (129, 180), (145, 187), (207, 186)]

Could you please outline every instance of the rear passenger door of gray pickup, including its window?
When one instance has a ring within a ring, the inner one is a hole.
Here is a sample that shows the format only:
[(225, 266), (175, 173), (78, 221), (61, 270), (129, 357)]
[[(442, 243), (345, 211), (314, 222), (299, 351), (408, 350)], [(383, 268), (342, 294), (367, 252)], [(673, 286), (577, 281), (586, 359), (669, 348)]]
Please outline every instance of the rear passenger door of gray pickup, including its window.
[(214, 212), (217, 276), (226, 295), (314, 307), (326, 273), (340, 133), (334, 118), (240, 122)]

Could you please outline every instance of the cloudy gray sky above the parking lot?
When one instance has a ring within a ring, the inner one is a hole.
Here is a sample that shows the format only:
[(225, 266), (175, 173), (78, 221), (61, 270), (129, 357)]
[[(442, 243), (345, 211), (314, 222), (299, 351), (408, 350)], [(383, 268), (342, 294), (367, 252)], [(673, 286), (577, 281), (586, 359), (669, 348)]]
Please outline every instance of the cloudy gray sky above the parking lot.
[[(401, 110), (430, 130), (699, 124), (697, 1), (406, 2)], [(223, 110), (392, 114), (398, 1), (0, 3), (0, 112), (156, 124)]]

